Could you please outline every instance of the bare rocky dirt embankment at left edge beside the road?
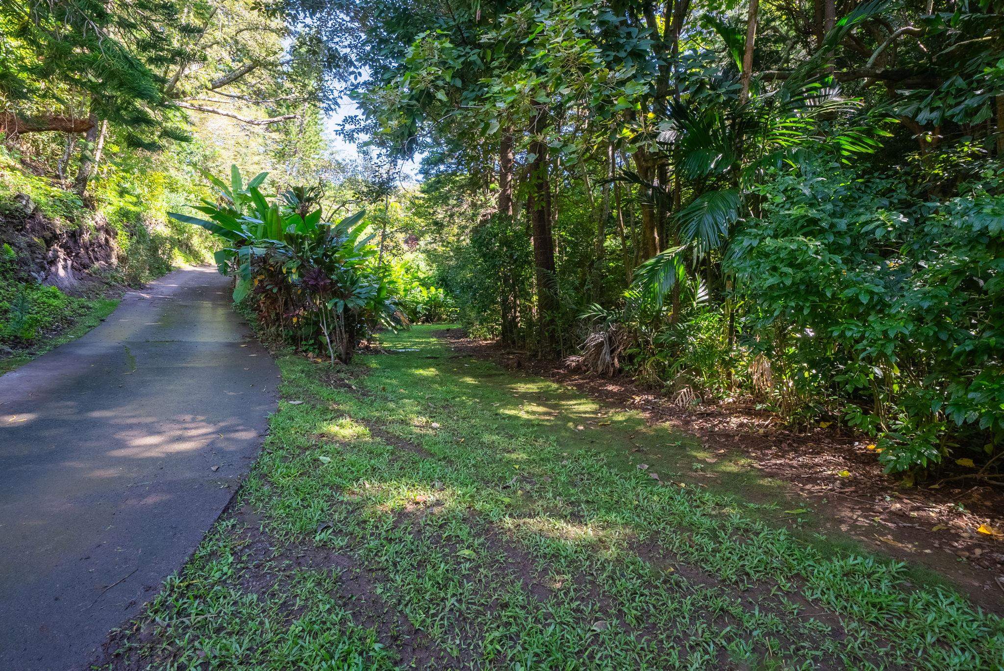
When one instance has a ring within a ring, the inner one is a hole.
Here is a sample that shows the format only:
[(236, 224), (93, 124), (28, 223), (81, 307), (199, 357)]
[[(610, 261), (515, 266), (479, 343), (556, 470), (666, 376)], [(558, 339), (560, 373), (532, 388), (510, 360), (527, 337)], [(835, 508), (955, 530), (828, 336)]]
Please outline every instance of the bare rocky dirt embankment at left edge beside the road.
[(25, 279), (75, 292), (82, 274), (113, 265), (118, 253), (115, 231), (101, 214), (66, 224), (45, 216), (24, 194), (0, 208), (0, 252), (13, 251), (13, 261)]

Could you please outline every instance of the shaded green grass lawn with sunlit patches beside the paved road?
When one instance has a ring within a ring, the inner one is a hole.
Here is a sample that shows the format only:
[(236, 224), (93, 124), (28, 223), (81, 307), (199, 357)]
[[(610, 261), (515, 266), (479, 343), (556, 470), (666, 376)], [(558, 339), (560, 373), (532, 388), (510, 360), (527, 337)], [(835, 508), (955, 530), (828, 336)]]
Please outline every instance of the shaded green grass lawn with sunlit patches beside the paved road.
[(261, 458), (112, 666), (1002, 668), (1002, 621), (944, 584), (790, 529), (769, 483), (695, 486), (694, 439), (433, 330), (280, 359)]

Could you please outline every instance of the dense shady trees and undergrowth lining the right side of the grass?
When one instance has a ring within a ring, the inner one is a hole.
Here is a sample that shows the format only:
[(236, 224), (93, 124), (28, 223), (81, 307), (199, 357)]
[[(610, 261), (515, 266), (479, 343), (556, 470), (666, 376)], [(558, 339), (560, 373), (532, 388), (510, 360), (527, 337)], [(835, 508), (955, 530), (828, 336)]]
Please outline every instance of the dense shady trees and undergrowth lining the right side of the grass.
[(369, 74), (345, 130), (422, 160), (476, 332), (891, 471), (1001, 454), (1000, 3), (288, 7)]

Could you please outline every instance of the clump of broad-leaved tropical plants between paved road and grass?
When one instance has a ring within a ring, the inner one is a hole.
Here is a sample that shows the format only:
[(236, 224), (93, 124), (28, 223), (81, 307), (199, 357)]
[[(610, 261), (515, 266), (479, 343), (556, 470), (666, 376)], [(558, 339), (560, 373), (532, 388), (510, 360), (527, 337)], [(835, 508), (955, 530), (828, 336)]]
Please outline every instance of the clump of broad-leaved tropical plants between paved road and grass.
[(406, 323), (388, 268), (369, 244), (375, 234), (363, 235), (362, 212), (331, 224), (321, 221), (317, 189), (294, 187), (269, 203), (258, 189), (267, 173), (246, 185), (236, 165), (230, 184), (208, 177), (219, 189), (217, 203), (195, 209), (209, 219), (171, 217), (224, 241), (216, 252), (220, 272), (236, 273), (234, 300), (249, 298), (266, 331), (307, 349), (321, 345), (332, 364), (347, 364), (367, 332)]

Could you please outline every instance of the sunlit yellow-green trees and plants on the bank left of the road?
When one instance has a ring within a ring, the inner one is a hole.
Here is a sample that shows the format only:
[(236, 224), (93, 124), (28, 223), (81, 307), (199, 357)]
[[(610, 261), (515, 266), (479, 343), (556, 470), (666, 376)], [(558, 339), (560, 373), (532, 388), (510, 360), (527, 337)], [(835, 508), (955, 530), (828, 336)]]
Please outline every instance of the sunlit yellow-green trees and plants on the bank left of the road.
[[(167, 216), (210, 195), (200, 169), (240, 161), (283, 185), (352, 173), (323, 138), (325, 58), (244, 0), (0, 2), (0, 340), (37, 350), (101, 286), (40, 286), (43, 259), (140, 285), (211, 258), (211, 236)], [(41, 247), (98, 229), (107, 263)]]

